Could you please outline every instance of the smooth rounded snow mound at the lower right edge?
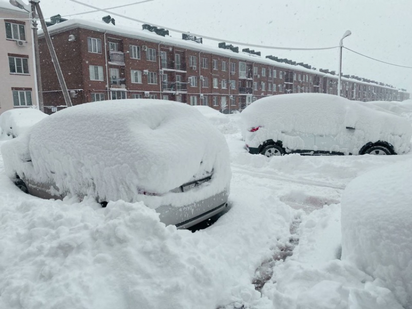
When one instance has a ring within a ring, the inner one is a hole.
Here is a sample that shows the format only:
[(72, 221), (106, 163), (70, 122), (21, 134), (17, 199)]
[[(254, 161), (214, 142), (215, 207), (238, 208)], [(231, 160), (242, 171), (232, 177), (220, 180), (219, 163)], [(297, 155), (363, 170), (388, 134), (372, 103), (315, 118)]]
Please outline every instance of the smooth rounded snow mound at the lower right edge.
[(342, 259), (412, 308), (412, 160), (354, 179), (342, 197)]

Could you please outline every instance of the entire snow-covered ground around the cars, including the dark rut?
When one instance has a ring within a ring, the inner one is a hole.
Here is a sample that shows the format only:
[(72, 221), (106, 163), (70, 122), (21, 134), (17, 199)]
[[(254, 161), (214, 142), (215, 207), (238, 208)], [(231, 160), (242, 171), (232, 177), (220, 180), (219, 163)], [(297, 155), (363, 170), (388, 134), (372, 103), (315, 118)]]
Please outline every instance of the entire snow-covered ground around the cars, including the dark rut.
[(140, 203), (26, 195), (0, 157), (0, 308), (402, 308), (339, 260), (340, 200), (353, 178), (412, 154), (250, 155), (237, 117), (218, 124), (232, 208), (194, 233)]

